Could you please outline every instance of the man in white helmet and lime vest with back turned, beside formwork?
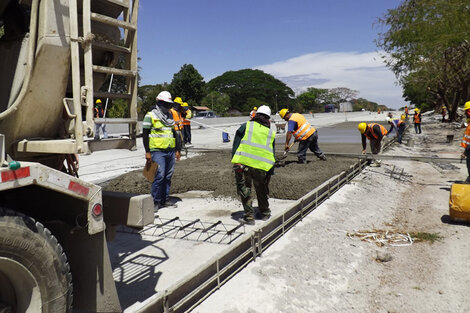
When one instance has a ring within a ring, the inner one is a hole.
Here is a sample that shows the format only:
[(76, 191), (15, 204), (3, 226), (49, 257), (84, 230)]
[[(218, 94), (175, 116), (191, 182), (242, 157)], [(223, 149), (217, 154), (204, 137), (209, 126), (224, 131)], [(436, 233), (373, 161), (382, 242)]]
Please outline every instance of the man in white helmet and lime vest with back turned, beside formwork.
[[(255, 217), (267, 220), (271, 217), (268, 194), (269, 180), (274, 171), (274, 138), (271, 129), (271, 109), (262, 105), (249, 122), (244, 123), (235, 133), (232, 147), (232, 163), (241, 197), (244, 215), (239, 221), (255, 224)], [(258, 214), (255, 215), (251, 197), (254, 185), (258, 199)]]

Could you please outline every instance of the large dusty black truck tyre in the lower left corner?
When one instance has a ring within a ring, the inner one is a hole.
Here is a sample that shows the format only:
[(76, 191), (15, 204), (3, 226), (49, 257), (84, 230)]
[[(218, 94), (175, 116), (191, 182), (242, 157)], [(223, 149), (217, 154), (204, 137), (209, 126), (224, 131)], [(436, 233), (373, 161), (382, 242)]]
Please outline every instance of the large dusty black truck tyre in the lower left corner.
[(72, 275), (62, 247), (31, 217), (0, 207), (0, 311), (69, 312)]

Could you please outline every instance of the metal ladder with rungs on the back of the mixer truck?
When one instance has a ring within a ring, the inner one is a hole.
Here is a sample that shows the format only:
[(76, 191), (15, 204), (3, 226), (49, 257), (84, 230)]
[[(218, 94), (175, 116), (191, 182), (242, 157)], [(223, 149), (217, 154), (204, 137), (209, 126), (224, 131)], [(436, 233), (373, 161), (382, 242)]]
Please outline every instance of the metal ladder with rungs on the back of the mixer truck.
[[(83, 38), (84, 49), (84, 76), (85, 76), (85, 102), (87, 106), (86, 121), (87, 126), (92, 127), (94, 123), (104, 124), (128, 124), (128, 143), (118, 143), (116, 148), (126, 147), (136, 148), (137, 137), (137, 14), (139, 0), (102, 0), (109, 6), (122, 8), (122, 19), (92, 12), (91, 0), (83, 0)], [(95, 40), (93, 35), (92, 21), (118, 27), (123, 33), (122, 45)], [(89, 44), (87, 44), (89, 40)], [(92, 48), (117, 53), (123, 62), (117, 62), (114, 67), (100, 66), (93, 64)], [(122, 68), (119, 68), (122, 67)], [(93, 73), (112, 74), (125, 77), (126, 90), (122, 93), (100, 92), (93, 90)], [(94, 118), (93, 108), (95, 98), (123, 99), (127, 102), (129, 117), (123, 118)], [(93, 121), (93, 123), (91, 123)], [(94, 129), (93, 129), (94, 131)], [(122, 139), (119, 139), (122, 141)], [(107, 140), (106, 140), (107, 141)], [(100, 144), (100, 142), (89, 142), (91, 150), (109, 149), (113, 147), (110, 142)]]

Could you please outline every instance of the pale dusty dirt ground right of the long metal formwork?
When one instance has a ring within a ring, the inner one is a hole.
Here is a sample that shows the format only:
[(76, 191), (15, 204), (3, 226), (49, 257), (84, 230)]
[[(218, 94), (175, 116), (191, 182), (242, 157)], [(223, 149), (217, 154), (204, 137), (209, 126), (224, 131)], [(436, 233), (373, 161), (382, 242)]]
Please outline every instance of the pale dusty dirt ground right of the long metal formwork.
[[(457, 124), (425, 116), (422, 128), (386, 154), (459, 157)], [(450, 187), (466, 176), (459, 163), (368, 167), (194, 312), (470, 312), (470, 225), (448, 215)], [(351, 235), (381, 231), (414, 241)]]

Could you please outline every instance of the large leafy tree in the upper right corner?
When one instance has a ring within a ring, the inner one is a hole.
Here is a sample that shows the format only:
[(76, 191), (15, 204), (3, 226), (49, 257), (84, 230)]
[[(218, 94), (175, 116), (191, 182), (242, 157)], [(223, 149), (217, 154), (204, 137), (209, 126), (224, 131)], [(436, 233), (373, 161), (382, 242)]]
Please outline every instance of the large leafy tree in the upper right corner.
[(388, 30), (377, 45), (407, 94), (422, 88), (451, 120), (470, 96), (469, 14), (467, 0), (407, 0), (379, 20)]

